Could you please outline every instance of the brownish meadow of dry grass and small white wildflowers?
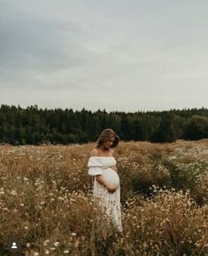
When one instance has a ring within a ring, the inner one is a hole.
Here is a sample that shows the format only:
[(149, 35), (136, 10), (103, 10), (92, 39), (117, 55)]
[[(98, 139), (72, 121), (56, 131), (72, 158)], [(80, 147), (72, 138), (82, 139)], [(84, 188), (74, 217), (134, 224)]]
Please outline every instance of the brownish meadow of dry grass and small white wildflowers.
[(102, 235), (83, 145), (0, 145), (0, 255), (208, 255), (208, 140), (115, 148), (123, 234)]

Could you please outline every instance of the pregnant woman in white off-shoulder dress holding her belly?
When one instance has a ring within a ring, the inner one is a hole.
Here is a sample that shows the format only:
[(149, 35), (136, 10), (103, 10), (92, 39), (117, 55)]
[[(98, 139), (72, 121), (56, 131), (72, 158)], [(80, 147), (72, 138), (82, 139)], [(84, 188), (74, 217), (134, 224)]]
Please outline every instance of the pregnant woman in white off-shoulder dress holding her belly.
[(89, 175), (95, 176), (93, 196), (98, 198), (112, 225), (122, 232), (120, 213), (120, 186), (113, 150), (119, 144), (119, 136), (112, 129), (104, 129), (89, 157)]

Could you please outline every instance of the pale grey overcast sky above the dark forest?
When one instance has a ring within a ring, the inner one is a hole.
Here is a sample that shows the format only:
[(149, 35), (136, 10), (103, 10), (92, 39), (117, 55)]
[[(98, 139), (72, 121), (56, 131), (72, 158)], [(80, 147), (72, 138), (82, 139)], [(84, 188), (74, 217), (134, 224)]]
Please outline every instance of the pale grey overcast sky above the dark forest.
[(0, 104), (208, 108), (207, 0), (0, 0)]

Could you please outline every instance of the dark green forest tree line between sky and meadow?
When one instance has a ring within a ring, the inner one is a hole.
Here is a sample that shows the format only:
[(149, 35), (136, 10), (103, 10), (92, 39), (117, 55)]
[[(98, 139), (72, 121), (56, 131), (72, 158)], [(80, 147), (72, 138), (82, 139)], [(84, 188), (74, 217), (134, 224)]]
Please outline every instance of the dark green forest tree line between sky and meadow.
[(112, 128), (121, 140), (173, 142), (208, 138), (208, 109), (187, 108), (134, 113), (82, 108), (42, 109), (1, 105), (0, 143), (39, 145), (96, 141), (104, 128)]

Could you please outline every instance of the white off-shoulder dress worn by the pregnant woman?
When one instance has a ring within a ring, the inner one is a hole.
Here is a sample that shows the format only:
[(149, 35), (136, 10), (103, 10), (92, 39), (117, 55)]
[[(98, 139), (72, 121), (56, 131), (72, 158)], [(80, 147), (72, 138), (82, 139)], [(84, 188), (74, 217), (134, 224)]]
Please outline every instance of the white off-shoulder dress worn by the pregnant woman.
[(89, 175), (95, 176), (93, 196), (99, 199), (99, 204), (104, 207), (104, 212), (110, 216), (113, 226), (122, 231), (121, 212), (120, 212), (120, 186), (114, 193), (109, 193), (107, 188), (96, 181), (96, 175), (103, 175), (111, 185), (119, 185), (119, 175), (110, 166), (116, 165), (113, 156), (90, 156)]

